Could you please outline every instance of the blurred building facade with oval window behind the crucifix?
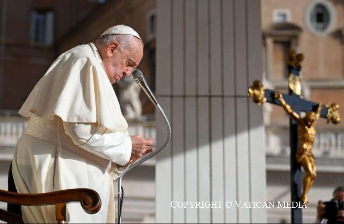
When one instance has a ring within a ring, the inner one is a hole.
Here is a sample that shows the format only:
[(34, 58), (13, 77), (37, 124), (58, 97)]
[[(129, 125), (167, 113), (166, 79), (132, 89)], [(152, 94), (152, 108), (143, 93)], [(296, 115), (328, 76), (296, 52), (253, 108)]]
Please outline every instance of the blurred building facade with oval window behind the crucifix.
[[(338, 103), (344, 111), (344, 2), (340, 0), (261, 1), (263, 77), (270, 89), (288, 92), (286, 68), (289, 48), (304, 54), (302, 95)], [(266, 129), (267, 201), (290, 200), (289, 117), (279, 106), (264, 105)], [(303, 222), (314, 222), (319, 200), (329, 201), (344, 183), (344, 122), (316, 124), (313, 153), (318, 176), (309, 192)], [(290, 222), (290, 208), (269, 208), (271, 223)]]

